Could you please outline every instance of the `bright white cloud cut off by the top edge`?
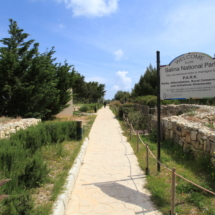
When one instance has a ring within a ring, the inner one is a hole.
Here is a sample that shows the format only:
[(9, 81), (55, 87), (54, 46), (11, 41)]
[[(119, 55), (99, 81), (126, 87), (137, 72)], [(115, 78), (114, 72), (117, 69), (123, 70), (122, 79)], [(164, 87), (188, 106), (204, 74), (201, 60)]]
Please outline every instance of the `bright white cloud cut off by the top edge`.
[(119, 0), (56, 0), (72, 8), (74, 16), (105, 16), (116, 12)]

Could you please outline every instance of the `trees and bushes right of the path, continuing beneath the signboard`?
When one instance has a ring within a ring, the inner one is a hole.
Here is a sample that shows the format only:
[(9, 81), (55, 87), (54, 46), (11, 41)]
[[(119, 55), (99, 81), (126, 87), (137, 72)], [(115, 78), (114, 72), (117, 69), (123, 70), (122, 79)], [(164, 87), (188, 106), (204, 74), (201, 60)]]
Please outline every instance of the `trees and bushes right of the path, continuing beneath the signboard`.
[[(142, 105), (155, 106), (157, 104), (157, 69), (151, 64), (146, 68), (144, 75), (140, 76), (138, 83), (134, 85), (131, 93), (118, 91), (114, 100), (121, 103), (132, 102)], [(182, 99), (182, 100), (162, 100), (161, 104), (202, 104), (215, 105), (214, 99)]]

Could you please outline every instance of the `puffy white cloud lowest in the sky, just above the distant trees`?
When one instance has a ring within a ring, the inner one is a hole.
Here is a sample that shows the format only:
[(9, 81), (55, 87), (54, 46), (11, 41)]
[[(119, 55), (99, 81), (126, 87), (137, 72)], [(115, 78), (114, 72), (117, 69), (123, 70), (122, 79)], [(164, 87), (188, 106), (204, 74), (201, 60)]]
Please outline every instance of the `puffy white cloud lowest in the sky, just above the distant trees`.
[(132, 80), (131, 80), (131, 78), (127, 77), (127, 74), (128, 74), (128, 72), (126, 72), (126, 71), (118, 71), (116, 73), (115, 85), (112, 87), (113, 90), (126, 91), (126, 90), (131, 89)]

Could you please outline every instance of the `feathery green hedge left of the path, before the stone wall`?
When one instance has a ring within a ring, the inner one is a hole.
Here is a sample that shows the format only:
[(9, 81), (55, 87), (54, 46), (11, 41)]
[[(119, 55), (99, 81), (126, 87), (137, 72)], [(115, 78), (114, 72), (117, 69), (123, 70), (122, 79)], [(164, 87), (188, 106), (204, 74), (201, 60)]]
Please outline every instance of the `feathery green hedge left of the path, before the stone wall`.
[(33, 188), (46, 180), (48, 170), (40, 153), (42, 146), (77, 139), (76, 122), (40, 123), (0, 140), (0, 172), (12, 179), (4, 193)]

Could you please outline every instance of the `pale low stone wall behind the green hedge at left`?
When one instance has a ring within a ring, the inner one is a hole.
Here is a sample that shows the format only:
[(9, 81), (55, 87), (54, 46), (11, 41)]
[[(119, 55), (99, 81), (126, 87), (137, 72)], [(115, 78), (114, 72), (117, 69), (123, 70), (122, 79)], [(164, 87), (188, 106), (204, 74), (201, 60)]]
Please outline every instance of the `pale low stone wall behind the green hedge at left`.
[(41, 119), (29, 118), (16, 121), (9, 121), (0, 124), (0, 139), (10, 137), (10, 134), (16, 133), (20, 129), (26, 129), (32, 125), (37, 125)]

